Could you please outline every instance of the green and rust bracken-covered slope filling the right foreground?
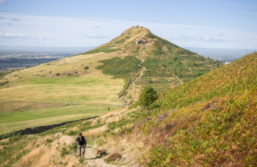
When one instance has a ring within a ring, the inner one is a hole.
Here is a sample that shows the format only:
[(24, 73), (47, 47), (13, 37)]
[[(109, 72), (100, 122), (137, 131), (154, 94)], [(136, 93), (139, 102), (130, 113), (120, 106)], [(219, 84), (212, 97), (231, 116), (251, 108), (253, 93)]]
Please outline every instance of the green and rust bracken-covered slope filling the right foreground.
[(126, 114), (114, 136), (143, 142), (145, 166), (256, 166), (256, 73), (257, 52)]

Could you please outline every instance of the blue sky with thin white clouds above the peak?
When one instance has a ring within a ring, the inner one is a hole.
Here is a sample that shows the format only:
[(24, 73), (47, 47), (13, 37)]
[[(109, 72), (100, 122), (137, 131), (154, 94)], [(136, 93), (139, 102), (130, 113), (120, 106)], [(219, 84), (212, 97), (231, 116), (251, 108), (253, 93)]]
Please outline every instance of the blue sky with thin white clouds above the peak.
[(140, 25), (180, 47), (257, 48), (257, 1), (0, 0), (0, 45), (86, 47)]

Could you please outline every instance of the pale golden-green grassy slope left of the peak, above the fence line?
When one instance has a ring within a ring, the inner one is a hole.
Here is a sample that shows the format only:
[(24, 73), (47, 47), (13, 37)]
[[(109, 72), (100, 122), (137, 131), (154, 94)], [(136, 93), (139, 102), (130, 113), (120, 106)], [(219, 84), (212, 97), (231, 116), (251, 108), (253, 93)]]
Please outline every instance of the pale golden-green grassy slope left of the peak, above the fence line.
[[(112, 76), (95, 69), (101, 64), (98, 60), (118, 55), (125, 56), (118, 53), (81, 55), (9, 73), (0, 78), (0, 82), (8, 81), (0, 87), (0, 100), (121, 104), (113, 98), (125, 82), (110, 79)], [(85, 70), (86, 66), (89, 69)]]

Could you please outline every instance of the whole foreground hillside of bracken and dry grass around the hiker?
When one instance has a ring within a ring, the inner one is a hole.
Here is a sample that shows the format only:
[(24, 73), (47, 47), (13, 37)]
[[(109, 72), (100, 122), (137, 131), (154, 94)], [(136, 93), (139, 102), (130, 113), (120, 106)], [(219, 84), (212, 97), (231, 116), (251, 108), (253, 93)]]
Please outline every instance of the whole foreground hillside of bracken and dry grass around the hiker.
[[(53, 150), (57, 141), (67, 142), (62, 146), (66, 149), (72, 148), (73, 137), (82, 132), (94, 145), (92, 150), (122, 155), (108, 162), (112, 164), (137, 159), (141, 166), (256, 166), (256, 73), (257, 52), (164, 92), (148, 107), (135, 103), (95, 120), (53, 128), (29, 140), (20, 137), (16, 143), (24, 144), (19, 151), (12, 142), (15, 136), (10, 137), (2, 140), (0, 163), (19, 164), (28, 157), (30, 161), (23, 166), (47, 166), (43, 159), (52, 156), (51, 165), (67, 162), (79, 166), (84, 162), (78, 163), (81, 159), (74, 153), (67, 151), (61, 156)], [(52, 151), (47, 152), (47, 148)]]

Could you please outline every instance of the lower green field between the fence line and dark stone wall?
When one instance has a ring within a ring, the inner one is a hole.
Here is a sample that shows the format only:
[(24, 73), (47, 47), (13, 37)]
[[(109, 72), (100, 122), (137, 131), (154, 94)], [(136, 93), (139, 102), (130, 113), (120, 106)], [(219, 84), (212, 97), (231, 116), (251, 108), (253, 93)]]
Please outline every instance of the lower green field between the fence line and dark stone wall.
[[(19, 103), (18, 103), (19, 104)], [(10, 104), (9, 105), (17, 105)], [(22, 106), (24, 103), (22, 104)], [(76, 120), (81, 118), (99, 116), (108, 113), (107, 108), (111, 110), (120, 108), (120, 106), (98, 106), (98, 105), (69, 105), (61, 106), (49, 104), (32, 103), (26, 105), (22, 110), (3, 111), (0, 113), (0, 134), (11, 132), (13, 129), (19, 130), (27, 127), (40, 125), (50, 125), (67, 120)], [(0, 105), (3, 107), (2, 105)], [(15, 107), (14, 107), (15, 108)]]

